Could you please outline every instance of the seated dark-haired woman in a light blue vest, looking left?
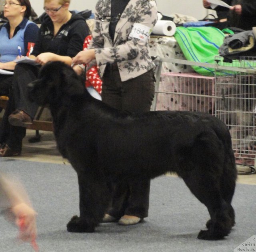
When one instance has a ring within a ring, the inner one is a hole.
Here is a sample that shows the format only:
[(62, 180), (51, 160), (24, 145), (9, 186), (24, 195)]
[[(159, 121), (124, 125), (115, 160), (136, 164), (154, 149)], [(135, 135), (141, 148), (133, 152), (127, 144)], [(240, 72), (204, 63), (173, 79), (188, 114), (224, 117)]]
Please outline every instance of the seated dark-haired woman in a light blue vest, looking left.
[[(13, 61), (19, 55), (29, 52), (30, 45), (36, 41), (38, 26), (29, 21), (31, 5), (29, 0), (12, 0), (3, 4), (4, 17), (8, 23), (0, 26), (0, 69), (14, 70), (16, 63)], [(9, 95), (13, 76), (0, 74), (0, 96)]]

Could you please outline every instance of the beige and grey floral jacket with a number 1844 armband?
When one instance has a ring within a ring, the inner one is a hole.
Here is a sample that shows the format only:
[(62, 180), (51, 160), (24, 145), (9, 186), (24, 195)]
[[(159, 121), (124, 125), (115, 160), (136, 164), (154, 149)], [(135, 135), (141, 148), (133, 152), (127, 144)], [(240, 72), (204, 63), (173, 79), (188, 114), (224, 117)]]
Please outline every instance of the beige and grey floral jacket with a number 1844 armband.
[[(88, 47), (96, 49), (100, 75), (103, 75), (108, 62), (117, 62), (122, 81), (154, 68), (149, 55), (149, 35), (157, 21), (155, 0), (130, 0), (116, 25), (114, 42), (108, 32), (110, 10), (111, 0), (98, 0), (93, 39)], [(140, 35), (144, 39), (140, 39)]]

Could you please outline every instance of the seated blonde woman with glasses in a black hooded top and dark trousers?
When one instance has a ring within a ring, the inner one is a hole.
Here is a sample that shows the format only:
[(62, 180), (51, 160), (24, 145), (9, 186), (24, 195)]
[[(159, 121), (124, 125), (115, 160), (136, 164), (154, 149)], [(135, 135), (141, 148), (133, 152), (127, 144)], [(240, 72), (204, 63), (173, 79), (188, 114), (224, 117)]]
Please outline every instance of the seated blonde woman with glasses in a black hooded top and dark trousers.
[(82, 16), (69, 11), (69, 4), (70, 0), (44, 0), (44, 10), (48, 15), (29, 56), (40, 65), (20, 63), (15, 67), (13, 92), (0, 127), (0, 156), (21, 154), (22, 139), (26, 135), (24, 127), (32, 121), (38, 109), (37, 104), (28, 100), (26, 87), (36, 80), (40, 66), (56, 60), (71, 65), (72, 57), (83, 48), (89, 28)]

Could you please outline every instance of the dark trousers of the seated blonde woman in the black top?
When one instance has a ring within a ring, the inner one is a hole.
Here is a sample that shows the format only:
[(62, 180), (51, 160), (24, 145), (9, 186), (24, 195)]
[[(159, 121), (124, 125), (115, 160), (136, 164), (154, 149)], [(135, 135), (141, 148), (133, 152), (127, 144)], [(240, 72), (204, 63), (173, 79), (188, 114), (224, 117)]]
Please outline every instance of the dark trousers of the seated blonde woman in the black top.
[(0, 125), (0, 143), (6, 143), (13, 150), (22, 149), (22, 139), (26, 136), (26, 128), (12, 126), (8, 116), (16, 109), (24, 110), (34, 118), (38, 105), (28, 99), (27, 85), (38, 77), (40, 67), (30, 64), (17, 64), (12, 79), (12, 89), (8, 105)]

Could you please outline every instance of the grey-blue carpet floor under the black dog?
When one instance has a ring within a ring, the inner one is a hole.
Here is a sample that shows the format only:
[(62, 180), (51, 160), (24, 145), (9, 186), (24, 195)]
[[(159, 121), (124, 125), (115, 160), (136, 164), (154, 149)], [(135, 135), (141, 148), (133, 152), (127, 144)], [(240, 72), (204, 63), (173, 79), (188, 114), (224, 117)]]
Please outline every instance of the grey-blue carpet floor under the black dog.
[[(224, 240), (198, 240), (209, 219), (206, 207), (183, 180), (162, 176), (152, 180), (149, 217), (141, 224), (101, 224), (94, 233), (69, 233), (66, 224), (78, 214), (78, 184), (70, 165), (0, 158), (0, 171), (26, 186), (38, 212), (40, 252), (232, 252), (256, 235), (256, 186), (238, 184), (233, 200), (236, 226)], [(250, 176), (250, 175), (247, 175)], [(0, 216), (0, 252), (30, 252), (17, 240), (15, 226)]]

